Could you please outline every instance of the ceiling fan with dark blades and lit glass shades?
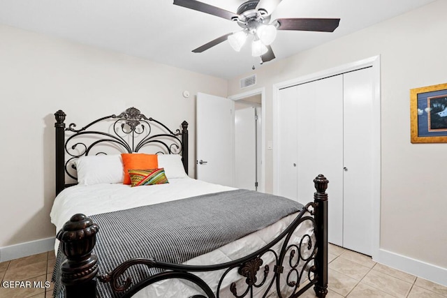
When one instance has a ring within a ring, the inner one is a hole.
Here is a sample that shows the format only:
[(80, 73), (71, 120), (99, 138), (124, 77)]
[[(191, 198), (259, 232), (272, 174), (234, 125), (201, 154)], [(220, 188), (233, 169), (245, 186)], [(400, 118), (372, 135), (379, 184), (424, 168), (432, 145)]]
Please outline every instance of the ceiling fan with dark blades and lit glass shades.
[(236, 13), (212, 6), (196, 0), (174, 0), (174, 4), (193, 10), (198, 10), (226, 20), (237, 22), (241, 31), (228, 33), (205, 43), (192, 52), (201, 53), (228, 40), (231, 47), (237, 52), (249, 36), (253, 38), (251, 55), (261, 57), (262, 62), (274, 59), (270, 44), (276, 38), (277, 30), (321, 31), (333, 32), (339, 25), (340, 19), (309, 19), (309, 18), (283, 18), (270, 22), (270, 17), (281, 0), (252, 0), (242, 3)]

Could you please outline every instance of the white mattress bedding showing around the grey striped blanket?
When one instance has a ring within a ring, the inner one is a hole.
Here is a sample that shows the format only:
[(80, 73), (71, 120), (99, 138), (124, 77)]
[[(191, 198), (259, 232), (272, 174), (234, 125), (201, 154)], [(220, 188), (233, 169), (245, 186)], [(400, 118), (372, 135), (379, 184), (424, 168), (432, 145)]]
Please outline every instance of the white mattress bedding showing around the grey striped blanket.
[[(120, 209), (129, 209), (148, 204), (189, 198), (206, 193), (217, 193), (235, 189), (191, 178), (170, 179), (169, 182), (169, 184), (140, 187), (130, 187), (123, 184), (96, 184), (92, 186), (72, 186), (66, 188), (54, 200), (52, 211), (50, 213), (51, 222), (56, 225), (57, 231), (59, 231), (64, 223), (77, 213), (86, 215), (101, 214)], [(263, 230), (249, 234), (246, 237), (222, 246), (215, 251), (193, 258), (184, 264), (212, 265), (236, 260), (237, 258), (249, 255), (249, 253), (265, 246), (265, 244), (268, 244), (272, 239), (277, 237), (288, 225), (290, 225), (293, 219), (295, 219), (295, 216), (296, 214), (286, 216), (285, 218), (282, 218), (281, 221), (278, 221)], [(295, 241), (295, 243), (299, 243), (302, 234), (312, 234), (312, 229), (313, 228), (308, 223), (303, 223), (297, 230), (295, 230), (293, 236), (295, 239), (291, 240)], [(279, 244), (281, 244), (281, 241)], [(55, 251), (57, 251), (58, 245), (59, 243), (57, 241), (55, 244)], [(279, 250), (277, 249), (277, 251)], [(267, 260), (269, 256), (270, 260)], [(265, 258), (264, 265), (270, 261), (273, 261), (271, 254)], [(272, 269), (273, 265), (270, 266), (271, 272), (269, 276), (273, 275)], [(260, 277), (263, 275), (261, 271), (258, 273), (258, 276)], [(200, 276), (200, 278), (203, 278), (203, 280), (215, 290), (221, 274), (222, 272), (207, 272), (197, 275)], [(230, 272), (228, 277), (223, 281), (222, 288), (225, 290), (221, 290), (220, 297), (234, 297), (228, 290), (228, 287), (230, 283), (236, 281), (237, 278), (240, 278), (237, 271), (233, 270)], [(194, 286), (187, 286), (186, 283), (188, 282), (179, 280), (161, 281), (155, 286), (143, 289), (134, 297), (168, 298), (189, 297), (198, 294)], [(240, 295), (245, 289), (245, 281), (241, 280), (237, 285), (237, 288), (239, 289), (238, 294)], [(229, 295), (223, 295), (223, 291), (227, 292)]]

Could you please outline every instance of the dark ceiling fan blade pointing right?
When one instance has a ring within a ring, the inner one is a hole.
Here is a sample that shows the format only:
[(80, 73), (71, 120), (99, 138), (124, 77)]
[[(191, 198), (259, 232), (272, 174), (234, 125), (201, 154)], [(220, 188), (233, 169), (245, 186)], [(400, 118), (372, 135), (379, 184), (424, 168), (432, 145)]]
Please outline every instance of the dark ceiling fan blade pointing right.
[(278, 30), (333, 32), (340, 19), (278, 19)]

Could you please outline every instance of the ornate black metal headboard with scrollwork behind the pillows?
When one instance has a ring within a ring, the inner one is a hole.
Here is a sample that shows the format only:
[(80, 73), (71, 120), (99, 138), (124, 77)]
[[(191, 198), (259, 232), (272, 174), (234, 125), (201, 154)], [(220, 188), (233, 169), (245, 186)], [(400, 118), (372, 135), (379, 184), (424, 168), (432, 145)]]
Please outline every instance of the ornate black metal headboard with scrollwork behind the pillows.
[[(182, 154), (184, 170), (188, 173), (188, 123), (182, 122), (182, 131), (171, 131), (156, 119), (147, 118), (140, 110), (129, 107), (119, 115), (112, 114), (92, 121), (87, 126), (76, 129), (76, 124), (65, 126), (66, 114), (59, 110), (54, 113), (56, 123), (56, 194), (67, 186), (66, 175), (73, 179), (73, 161), (89, 154), (106, 154), (108, 147), (120, 153), (138, 152), (143, 147), (154, 147), (156, 154)], [(98, 126), (105, 124), (103, 130)], [(154, 132), (152, 126), (159, 132)], [(98, 130), (97, 130), (98, 129)], [(67, 135), (67, 139), (66, 139)], [(101, 151), (96, 151), (101, 150)], [(66, 161), (65, 156), (70, 156)]]

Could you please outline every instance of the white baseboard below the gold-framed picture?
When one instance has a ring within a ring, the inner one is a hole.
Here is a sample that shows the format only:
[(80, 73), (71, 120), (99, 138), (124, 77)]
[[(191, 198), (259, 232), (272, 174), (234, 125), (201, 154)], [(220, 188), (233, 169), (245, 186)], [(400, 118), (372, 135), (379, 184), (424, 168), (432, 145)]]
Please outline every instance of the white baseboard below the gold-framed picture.
[(447, 268), (415, 260), (384, 249), (379, 249), (379, 253), (374, 256), (373, 260), (388, 267), (427, 279), (427, 281), (447, 286)]

